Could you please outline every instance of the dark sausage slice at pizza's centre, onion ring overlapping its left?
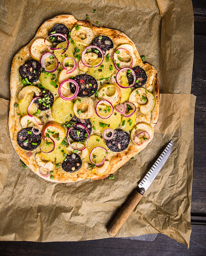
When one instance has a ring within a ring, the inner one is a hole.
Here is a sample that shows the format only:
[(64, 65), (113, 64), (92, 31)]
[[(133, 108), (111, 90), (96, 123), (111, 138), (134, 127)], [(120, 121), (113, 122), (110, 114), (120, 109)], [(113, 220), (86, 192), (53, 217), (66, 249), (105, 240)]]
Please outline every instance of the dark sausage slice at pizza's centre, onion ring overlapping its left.
[[(93, 78), (91, 75), (76, 75), (73, 78), (80, 86), (80, 90), (78, 91), (78, 95), (81, 98), (90, 97), (96, 93), (98, 85), (97, 80)], [(74, 94), (76, 91), (76, 86), (71, 83), (70, 85), (71, 92)]]

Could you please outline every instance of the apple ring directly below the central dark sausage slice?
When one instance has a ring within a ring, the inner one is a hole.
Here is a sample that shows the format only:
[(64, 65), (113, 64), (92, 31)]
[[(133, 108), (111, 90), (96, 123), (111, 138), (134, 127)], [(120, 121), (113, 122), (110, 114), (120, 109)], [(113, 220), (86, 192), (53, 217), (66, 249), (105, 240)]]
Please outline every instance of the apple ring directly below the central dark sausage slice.
[(95, 104), (91, 98), (81, 98), (73, 105), (75, 115), (80, 119), (88, 119), (95, 115)]

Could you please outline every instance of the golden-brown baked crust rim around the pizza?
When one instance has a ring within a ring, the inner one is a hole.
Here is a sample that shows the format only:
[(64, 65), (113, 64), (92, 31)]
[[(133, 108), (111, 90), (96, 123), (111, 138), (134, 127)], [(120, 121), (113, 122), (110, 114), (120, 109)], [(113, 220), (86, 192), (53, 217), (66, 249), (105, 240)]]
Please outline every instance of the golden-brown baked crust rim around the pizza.
[[(10, 74), (10, 111), (9, 111), (9, 119), (8, 119), (8, 125), (9, 125), (9, 132), (10, 132), (10, 139), (12, 141), (12, 145), (15, 149), (15, 151), (18, 153), (19, 157), (22, 159), (22, 161), (37, 175), (39, 175), (41, 178), (44, 178), (45, 180), (50, 180), (50, 177), (43, 177), (39, 173), (39, 166), (37, 165), (35, 161), (35, 153), (39, 152), (40, 149), (33, 150), (33, 155), (31, 157), (27, 156), (27, 151), (23, 150), (21, 147), (17, 144), (17, 135), (20, 130), (22, 130), (22, 126), (20, 125), (20, 116), (17, 114), (18, 110), (16, 107), (14, 107), (14, 103), (17, 102), (17, 96), (19, 91), (22, 89), (22, 85), (20, 85), (20, 79), (19, 79), (19, 66), (22, 65), (25, 60), (31, 58), (30, 57), (30, 46), (36, 40), (37, 38), (45, 38), (48, 34), (48, 31), (54, 27), (56, 23), (64, 23), (67, 27), (74, 27), (76, 24), (83, 25), (85, 27), (89, 27), (93, 29), (94, 37), (97, 35), (107, 35), (113, 40), (113, 43), (117, 45), (117, 47), (121, 44), (130, 44), (133, 46), (134, 54), (136, 56), (136, 63), (135, 65), (141, 66), (141, 68), (146, 69), (147, 77), (151, 80), (150, 88), (152, 89), (151, 92), (155, 96), (155, 106), (154, 109), (151, 111), (151, 117), (150, 117), (150, 126), (154, 127), (158, 116), (159, 116), (159, 80), (156, 69), (151, 66), (150, 64), (144, 64), (142, 63), (142, 60), (140, 58), (140, 55), (138, 53), (138, 50), (135, 47), (135, 44), (133, 41), (124, 33), (115, 30), (115, 29), (109, 29), (104, 27), (96, 27), (94, 26), (89, 19), (86, 21), (77, 21), (75, 17), (71, 15), (60, 15), (56, 16), (52, 19), (49, 19), (46, 21), (41, 27), (39, 28), (38, 32), (36, 33), (35, 37), (29, 44), (27, 44), (25, 47), (20, 49), (20, 51), (15, 55), (13, 62), (12, 62), (12, 69)], [(133, 64), (133, 66), (135, 66)], [(153, 137), (153, 136), (152, 136)], [(108, 177), (111, 173), (114, 173), (118, 170), (119, 167), (124, 165), (127, 161), (130, 160), (131, 157), (138, 154), (141, 150), (143, 150), (147, 144), (151, 141), (152, 137), (148, 142), (144, 142), (141, 146), (134, 146), (129, 144), (128, 149), (114, 153), (112, 157), (110, 157), (110, 168), (107, 172), (107, 175), (104, 176), (97, 176), (92, 173), (89, 173), (87, 171), (87, 162), (83, 160), (83, 164), (81, 169), (78, 171), (78, 176), (74, 173), (67, 173), (63, 171), (61, 168), (60, 170), (54, 170), (54, 176), (55, 179), (54, 182), (76, 182), (80, 180), (84, 180), (86, 178), (90, 178), (93, 180), (99, 180), (105, 177)]]

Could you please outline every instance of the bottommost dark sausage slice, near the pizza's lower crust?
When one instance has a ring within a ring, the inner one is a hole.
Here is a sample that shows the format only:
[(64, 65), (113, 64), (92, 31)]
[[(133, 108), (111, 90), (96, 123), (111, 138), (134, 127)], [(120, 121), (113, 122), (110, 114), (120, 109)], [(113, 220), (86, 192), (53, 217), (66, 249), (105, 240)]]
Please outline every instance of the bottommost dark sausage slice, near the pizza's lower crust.
[(76, 172), (80, 170), (81, 166), (82, 160), (76, 153), (66, 155), (66, 161), (62, 163), (62, 169), (66, 172)]

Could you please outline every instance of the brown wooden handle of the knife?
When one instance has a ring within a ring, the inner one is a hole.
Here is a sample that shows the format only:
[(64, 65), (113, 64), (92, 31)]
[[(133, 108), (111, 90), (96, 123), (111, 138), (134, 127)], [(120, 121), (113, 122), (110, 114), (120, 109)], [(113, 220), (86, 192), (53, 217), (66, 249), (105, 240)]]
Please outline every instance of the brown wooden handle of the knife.
[(112, 235), (112, 237), (114, 237), (114, 235), (117, 234), (117, 232), (123, 226), (126, 219), (134, 210), (135, 206), (139, 203), (143, 194), (144, 191), (135, 191), (134, 194), (129, 198), (128, 202), (126, 202), (122, 210), (118, 213), (117, 217), (114, 219), (114, 221), (110, 224), (109, 228), (107, 229), (109, 235)]

